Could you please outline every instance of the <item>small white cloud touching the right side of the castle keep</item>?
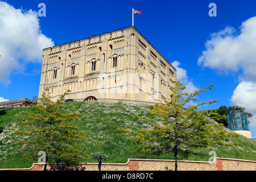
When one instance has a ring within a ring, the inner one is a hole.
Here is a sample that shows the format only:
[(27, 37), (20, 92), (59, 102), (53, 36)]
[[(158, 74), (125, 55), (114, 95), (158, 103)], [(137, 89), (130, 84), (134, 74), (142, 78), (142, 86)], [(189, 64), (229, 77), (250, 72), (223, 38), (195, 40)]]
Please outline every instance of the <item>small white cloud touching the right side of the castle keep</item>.
[(180, 81), (181, 84), (183, 84), (186, 87), (184, 92), (192, 93), (195, 90), (198, 90), (198, 88), (193, 84), (193, 82), (188, 79), (187, 70), (185, 70), (183, 68), (180, 68), (180, 62), (179, 61), (174, 61), (171, 64), (176, 68), (177, 81)]

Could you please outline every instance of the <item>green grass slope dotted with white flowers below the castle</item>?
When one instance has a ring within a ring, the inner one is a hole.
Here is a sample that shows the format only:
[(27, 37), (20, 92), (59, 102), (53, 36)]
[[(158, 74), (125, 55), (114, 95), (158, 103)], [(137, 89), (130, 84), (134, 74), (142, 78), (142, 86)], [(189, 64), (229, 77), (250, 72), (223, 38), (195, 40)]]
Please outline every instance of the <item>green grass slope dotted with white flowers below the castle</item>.
[[(136, 103), (113, 103), (113, 102), (71, 102), (64, 108), (66, 111), (84, 113), (81, 122), (73, 123), (80, 126), (86, 133), (87, 139), (82, 144), (81, 150), (89, 154), (88, 160), (84, 162), (97, 162), (94, 156), (102, 155), (107, 163), (126, 163), (128, 158), (141, 158), (142, 153), (131, 153), (135, 150), (134, 144), (127, 140), (121, 133), (115, 131), (118, 127), (126, 129), (147, 128), (146, 124), (138, 123), (133, 118), (141, 115), (149, 119), (147, 107)], [(0, 168), (27, 168), (28, 163), (22, 156), (20, 146), (14, 135), (14, 130), (20, 129), (18, 122), (22, 119), (18, 114), (32, 110), (30, 108), (16, 108), (11, 110), (0, 110)], [(228, 132), (228, 130), (227, 130)], [(26, 138), (19, 138), (19, 140)], [(210, 146), (201, 148), (205, 154), (215, 151), (218, 157), (256, 160), (256, 142), (245, 137), (232, 137), (232, 142), (237, 146)], [(35, 151), (38, 152), (38, 151)], [(172, 155), (146, 156), (148, 159), (174, 159)], [(208, 161), (208, 155), (192, 155), (187, 159), (179, 160), (204, 160)], [(37, 163), (37, 160), (35, 160)]]

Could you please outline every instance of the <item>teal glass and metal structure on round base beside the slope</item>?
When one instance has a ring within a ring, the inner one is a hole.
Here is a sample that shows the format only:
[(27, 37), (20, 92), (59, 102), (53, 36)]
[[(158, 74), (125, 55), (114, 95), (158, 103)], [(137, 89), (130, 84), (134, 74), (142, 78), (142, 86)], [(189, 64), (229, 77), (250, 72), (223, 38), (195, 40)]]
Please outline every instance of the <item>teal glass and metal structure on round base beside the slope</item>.
[(228, 119), (229, 129), (233, 131), (245, 130), (249, 131), (246, 113), (231, 113), (226, 115)]

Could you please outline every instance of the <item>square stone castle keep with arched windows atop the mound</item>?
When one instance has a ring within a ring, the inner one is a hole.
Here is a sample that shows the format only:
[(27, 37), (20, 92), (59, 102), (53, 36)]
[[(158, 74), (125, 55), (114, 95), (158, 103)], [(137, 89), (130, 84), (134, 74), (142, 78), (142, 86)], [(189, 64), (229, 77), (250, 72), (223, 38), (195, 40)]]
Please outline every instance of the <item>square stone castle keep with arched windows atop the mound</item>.
[(43, 49), (39, 98), (164, 104), (176, 69), (134, 26)]

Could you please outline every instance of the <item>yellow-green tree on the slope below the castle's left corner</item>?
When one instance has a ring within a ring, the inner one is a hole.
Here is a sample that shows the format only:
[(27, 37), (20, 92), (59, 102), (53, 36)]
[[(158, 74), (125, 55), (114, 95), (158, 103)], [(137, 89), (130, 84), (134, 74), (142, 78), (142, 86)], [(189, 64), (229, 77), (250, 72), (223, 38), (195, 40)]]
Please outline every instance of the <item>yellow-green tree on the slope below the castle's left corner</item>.
[(44, 170), (47, 164), (54, 168), (55, 163), (61, 163), (61, 167), (66, 169), (72, 168), (87, 157), (84, 152), (77, 149), (84, 141), (85, 134), (71, 123), (79, 122), (80, 114), (62, 110), (67, 93), (53, 102), (47, 89), (43, 92), (42, 98), (34, 97), (33, 111), (23, 114), (26, 118), (21, 122), (24, 131), (19, 131), (19, 134), (27, 138), (23, 142), (24, 154), (28, 155), (30, 160), (35, 160), (39, 158), (38, 152), (44, 151)]

